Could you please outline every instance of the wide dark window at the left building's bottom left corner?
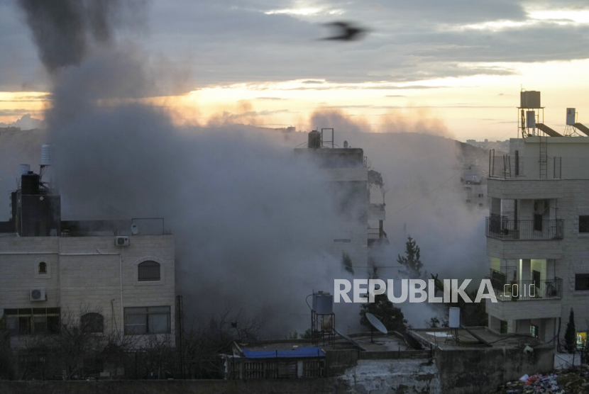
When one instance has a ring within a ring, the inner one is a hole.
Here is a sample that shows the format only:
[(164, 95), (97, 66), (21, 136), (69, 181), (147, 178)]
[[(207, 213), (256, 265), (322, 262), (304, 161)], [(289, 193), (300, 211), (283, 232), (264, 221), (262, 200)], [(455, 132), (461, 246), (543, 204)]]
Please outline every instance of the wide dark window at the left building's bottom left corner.
[(13, 336), (60, 332), (60, 308), (5, 309), (4, 315)]

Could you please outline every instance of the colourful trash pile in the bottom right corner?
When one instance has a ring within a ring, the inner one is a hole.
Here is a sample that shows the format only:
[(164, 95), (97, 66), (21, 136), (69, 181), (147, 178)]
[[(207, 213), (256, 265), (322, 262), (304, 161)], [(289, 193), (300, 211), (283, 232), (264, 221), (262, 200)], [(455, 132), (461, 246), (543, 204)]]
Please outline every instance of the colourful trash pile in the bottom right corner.
[(543, 375), (527, 374), (519, 381), (507, 382), (491, 394), (588, 394), (589, 366)]

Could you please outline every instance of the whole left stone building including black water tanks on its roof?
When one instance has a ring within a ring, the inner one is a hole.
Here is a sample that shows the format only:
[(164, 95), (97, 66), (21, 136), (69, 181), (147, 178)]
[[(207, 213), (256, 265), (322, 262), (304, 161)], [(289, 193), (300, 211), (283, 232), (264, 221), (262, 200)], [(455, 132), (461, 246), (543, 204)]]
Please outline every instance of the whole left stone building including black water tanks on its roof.
[(11, 218), (0, 223), (0, 317), (13, 347), (66, 324), (173, 334), (175, 247), (163, 219), (62, 220), (60, 196), (21, 170)]

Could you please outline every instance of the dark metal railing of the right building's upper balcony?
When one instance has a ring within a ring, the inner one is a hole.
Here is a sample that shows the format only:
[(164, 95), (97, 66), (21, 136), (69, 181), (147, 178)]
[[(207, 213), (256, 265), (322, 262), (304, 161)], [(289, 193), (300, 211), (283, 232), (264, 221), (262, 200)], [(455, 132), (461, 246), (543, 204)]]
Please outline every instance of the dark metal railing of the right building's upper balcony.
[(487, 237), (498, 240), (562, 240), (564, 220), (512, 220), (496, 215), (487, 218)]

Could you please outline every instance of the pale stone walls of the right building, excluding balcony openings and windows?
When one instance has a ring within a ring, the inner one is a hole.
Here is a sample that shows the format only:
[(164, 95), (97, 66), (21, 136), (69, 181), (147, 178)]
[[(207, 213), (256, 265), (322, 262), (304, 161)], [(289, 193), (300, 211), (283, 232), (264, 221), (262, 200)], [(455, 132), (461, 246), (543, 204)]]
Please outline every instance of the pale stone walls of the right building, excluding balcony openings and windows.
[[(586, 331), (589, 327), (589, 291), (575, 291), (575, 274), (589, 274), (589, 234), (578, 233), (578, 216), (589, 215), (589, 167), (580, 171), (564, 171), (565, 157), (589, 158), (589, 138), (558, 138), (549, 137), (549, 157), (563, 156), (563, 179), (489, 179), (488, 194), (490, 197), (502, 199), (519, 199), (522, 203), (535, 199), (553, 199), (556, 201), (556, 218), (564, 220), (563, 240), (496, 240), (487, 239), (487, 254), (499, 259), (555, 259), (554, 274), (563, 279), (561, 300), (519, 300), (508, 303), (487, 303), (488, 313), (502, 320), (540, 319), (556, 317), (556, 329), (543, 322), (541, 331), (558, 333), (560, 318), (560, 334), (564, 334), (568, 314), (573, 308), (578, 331)], [(527, 138), (523, 142), (511, 140), (510, 151), (520, 150), (520, 168), (525, 167), (526, 178), (538, 177), (538, 145), (539, 139)], [(532, 162), (536, 164), (532, 164)], [(589, 159), (588, 159), (589, 160)], [(589, 164), (589, 161), (588, 161)], [(534, 167), (536, 166), (536, 167)], [(549, 167), (551, 163), (549, 162)], [(551, 169), (550, 169), (551, 170)], [(521, 172), (520, 172), (521, 174)], [(576, 179), (571, 179), (576, 178)], [(546, 274), (552, 276), (552, 274)], [(519, 329), (524, 330), (522, 322)], [(517, 325), (510, 322), (512, 330)]]

